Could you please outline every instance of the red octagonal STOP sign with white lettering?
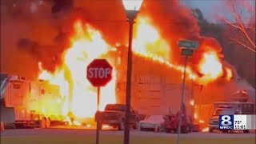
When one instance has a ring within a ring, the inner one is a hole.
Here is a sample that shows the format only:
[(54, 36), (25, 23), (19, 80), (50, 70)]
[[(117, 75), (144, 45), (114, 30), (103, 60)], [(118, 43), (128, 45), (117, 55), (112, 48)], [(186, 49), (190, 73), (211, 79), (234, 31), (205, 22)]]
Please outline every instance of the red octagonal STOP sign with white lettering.
[(106, 86), (112, 78), (112, 69), (106, 59), (94, 59), (87, 66), (86, 78), (93, 86)]

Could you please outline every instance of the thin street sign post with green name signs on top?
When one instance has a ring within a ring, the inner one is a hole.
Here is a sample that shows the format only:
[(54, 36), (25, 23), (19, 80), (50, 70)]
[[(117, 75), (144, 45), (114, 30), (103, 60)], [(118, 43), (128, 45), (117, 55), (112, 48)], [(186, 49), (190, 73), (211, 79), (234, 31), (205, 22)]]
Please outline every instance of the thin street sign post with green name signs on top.
[(183, 82), (182, 82), (182, 99), (181, 106), (178, 114), (178, 136), (177, 136), (177, 144), (179, 144), (179, 135), (181, 133), (182, 126), (182, 111), (183, 111), (183, 99), (184, 99), (184, 89), (185, 89), (185, 79), (186, 79), (186, 63), (187, 58), (192, 56), (194, 50), (198, 49), (199, 43), (194, 41), (180, 40), (178, 41), (178, 46), (182, 49), (181, 55), (185, 55), (185, 64), (183, 71)]

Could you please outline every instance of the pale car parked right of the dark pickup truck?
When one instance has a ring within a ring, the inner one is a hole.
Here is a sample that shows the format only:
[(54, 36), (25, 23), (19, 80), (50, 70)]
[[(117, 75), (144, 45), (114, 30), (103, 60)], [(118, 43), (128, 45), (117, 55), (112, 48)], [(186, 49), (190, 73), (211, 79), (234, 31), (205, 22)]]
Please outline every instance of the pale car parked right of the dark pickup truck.
[(165, 130), (165, 119), (166, 115), (147, 115), (144, 120), (138, 123), (139, 129), (164, 131)]

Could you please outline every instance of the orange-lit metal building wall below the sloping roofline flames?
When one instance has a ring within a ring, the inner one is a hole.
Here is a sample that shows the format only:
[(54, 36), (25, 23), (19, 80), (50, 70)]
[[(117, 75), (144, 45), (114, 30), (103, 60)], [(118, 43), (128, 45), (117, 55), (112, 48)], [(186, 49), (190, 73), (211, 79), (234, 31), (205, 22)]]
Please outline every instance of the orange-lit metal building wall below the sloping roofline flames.
[[(123, 53), (125, 54), (125, 53)], [(121, 54), (122, 55), (122, 54)], [(126, 57), (119, 63), (117, 77), (117, 102), (126, 102)], [(118, 67), (118, 66), (117, 66)], [(132, 98), (134, 109), (142, 114), (176, 113), (182, 94), (182, 73), (161, 62), (134, 54), (132, 74)], [(186, 81), (185, 103), (190, 109), (190, 80)]]

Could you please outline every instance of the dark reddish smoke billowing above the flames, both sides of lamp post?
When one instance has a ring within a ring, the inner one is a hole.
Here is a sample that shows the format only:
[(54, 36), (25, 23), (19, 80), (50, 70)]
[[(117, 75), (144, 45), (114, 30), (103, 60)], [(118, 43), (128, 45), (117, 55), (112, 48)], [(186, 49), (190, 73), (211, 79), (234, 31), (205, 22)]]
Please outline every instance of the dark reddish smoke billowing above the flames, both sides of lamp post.
[[(37, 3), (34, 11), (31, 11), (31, 2)], [(174, 64), (181, 65), (183, 62), (177, 46), (180, 38), (200, 42), (200, 47), (191, 58), (191, 66), (196, 66), (205, 51), (222, 50), (213, 38), (199, 35), (200, 29), (192, 12), (177, 0), (146, 0), (138, 14), (140, 16), (149, 16), (162, 38), (169, 42), (170, 58)], [(28, 56), (22, 61), (31, 63), (28, 65), (35, 73), (38, 62), (42, 62), (46, 70), (54, 71), (62, 65), (62, 54), (70, 45), (68, 36), (74, 33), (73, 24), (78, 19), (100, 30), (102, 38), (112, 46), (128, 41), (128, 23), (120, 0), (44, 0), (42, 4), (36, 0), (3, 0), (1, 18), (1, 34), (6, 34), (1, 37), (1, 54), (12, 55), (12, 58), (5, 57), (3, 61), (6, 62), (1, 61), (8, 65), (2, 66), (1, 71), (14, 71), (11, 67), (18, 67), (14, 59), (23, 54)], [(18, 56), (14, 55), (14, 51)], [(31, 70), (27, 70), (27, 74), (30, 73)]]

